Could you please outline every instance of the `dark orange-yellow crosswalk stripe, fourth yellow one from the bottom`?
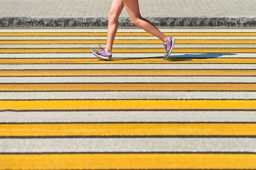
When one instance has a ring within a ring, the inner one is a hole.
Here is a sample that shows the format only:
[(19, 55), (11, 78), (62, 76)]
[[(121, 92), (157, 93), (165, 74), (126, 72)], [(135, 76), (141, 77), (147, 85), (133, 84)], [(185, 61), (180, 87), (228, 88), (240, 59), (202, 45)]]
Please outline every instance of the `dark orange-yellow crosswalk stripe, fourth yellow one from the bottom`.
[(256, 84), (0, 84), (0, 91), (256, 91)]

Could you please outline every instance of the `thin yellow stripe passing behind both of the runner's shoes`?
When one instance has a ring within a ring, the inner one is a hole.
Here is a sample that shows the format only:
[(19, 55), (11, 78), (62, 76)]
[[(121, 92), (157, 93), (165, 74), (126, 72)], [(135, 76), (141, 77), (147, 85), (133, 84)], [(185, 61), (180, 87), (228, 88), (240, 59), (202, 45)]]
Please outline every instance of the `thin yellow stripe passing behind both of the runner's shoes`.
[[(0, 49), (0, 53), (91, 53), (88, 48)], [(164, 53), (162, 48), (116, 48), (112, 53)], [(256, 48), (174, 48), (173, 53), (256, 53)]]

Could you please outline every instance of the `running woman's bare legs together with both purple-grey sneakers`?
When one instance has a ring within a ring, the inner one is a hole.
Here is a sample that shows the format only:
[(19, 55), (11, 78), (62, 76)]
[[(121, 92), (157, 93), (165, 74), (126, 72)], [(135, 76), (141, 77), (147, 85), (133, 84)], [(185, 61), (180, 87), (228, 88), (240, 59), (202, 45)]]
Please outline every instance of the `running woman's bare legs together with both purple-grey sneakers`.
[(103, 49), (100, 46), (101, 49), (103, 49), (102, 51), (91, 49), (92, 53), (97, 57), (103, 58), (104, 60), (111, 60), (112, 46), (118, 29), (118, 18), (124, 7), (126, 7), (133, 24), (139, 26), (141, 29), (144, 29), (164, 42), (164, 58), (167, 58), (171, 54), (175, 43), (175, 38), (166, 37), (166, 35), (159, 31), (159, 29), (157, 29), (150, 21), (141, 17), (138, 0), (112, 0), (112, 5), (108, 14), (108, 40), (106, 48)]

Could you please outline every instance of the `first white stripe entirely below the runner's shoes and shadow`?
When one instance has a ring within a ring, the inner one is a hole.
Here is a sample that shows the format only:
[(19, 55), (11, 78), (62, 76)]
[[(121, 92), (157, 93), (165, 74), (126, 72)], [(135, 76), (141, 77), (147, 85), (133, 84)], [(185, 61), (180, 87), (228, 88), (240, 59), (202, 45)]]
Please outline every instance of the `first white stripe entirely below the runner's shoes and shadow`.
[[(106, 63), (102, 61), (102, 63)], [(0, 64), (0, 70), (72, 70), (72, 69), (88, 69), (88, 70), (103, 70), (103, 69), (241, 69), (255, 70), (255, 64)]]

